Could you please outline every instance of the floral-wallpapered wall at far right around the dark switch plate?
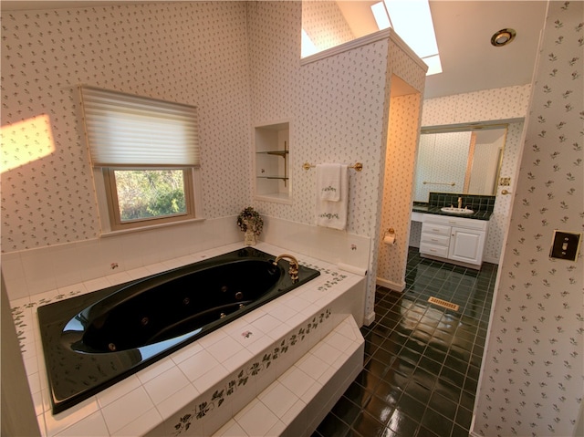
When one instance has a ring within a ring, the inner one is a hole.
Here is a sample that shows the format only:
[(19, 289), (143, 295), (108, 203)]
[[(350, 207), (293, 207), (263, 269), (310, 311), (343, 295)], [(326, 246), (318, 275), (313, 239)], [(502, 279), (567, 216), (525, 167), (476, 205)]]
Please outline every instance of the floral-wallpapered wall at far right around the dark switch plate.
[(582, 255), (549, 257), (554, 229), (584, 217), (584, 3), (550, 2), (474, 435), (574, 435), (584, 379)]

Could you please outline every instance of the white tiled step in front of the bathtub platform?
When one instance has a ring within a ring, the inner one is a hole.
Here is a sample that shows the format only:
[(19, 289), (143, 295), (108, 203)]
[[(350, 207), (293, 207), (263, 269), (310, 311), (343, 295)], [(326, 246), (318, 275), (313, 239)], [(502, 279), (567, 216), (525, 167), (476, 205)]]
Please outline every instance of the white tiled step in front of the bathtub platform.
[(309, 437), (363, 369), (364, 344), (346, 317), (213, 436)]

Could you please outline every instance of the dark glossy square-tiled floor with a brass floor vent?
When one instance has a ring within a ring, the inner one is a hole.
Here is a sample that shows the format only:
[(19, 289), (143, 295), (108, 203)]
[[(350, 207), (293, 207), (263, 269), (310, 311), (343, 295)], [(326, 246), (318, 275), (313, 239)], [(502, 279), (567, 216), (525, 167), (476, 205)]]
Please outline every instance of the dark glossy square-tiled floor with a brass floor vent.
[(312, 437), (468, 437), (496, 268), (432, 261), (411, 247), (406, 289), (378, 286), (375, 321), (361, 328), (364, 369)]

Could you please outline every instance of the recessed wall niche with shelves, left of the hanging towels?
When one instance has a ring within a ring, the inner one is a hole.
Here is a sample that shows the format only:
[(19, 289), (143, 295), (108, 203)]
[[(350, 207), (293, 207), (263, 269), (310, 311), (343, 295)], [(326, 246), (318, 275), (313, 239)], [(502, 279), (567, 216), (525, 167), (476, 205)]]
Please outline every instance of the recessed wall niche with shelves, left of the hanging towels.
[(288, 122), (255, 127), (255, 196), (271, 202), (291, 199)]

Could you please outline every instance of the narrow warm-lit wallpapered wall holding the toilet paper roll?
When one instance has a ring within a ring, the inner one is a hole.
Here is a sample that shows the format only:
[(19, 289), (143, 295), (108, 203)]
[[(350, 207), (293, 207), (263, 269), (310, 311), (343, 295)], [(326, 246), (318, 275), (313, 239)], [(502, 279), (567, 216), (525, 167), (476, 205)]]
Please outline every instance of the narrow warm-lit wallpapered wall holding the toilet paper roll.
[[(405, 286), (408, 241), (412, 216), (412, 190), (415, 156), (420, 138), (421, 100), (427, 66), (407, 47), (399, 36), (391, 34), (388, 80), (391, 99), (386, 113), (388, 121), (383, 153), (380, 223), (373, 240), (375, 282), (393, 290)], [(392, 84), (393, 81), (393, 84)], [(398, 87), (398, 81), (408, 90)], [(399, 91), (399, 92), (398, 92)], [(396, 243), (382, 243), (389, 228), (396, 232)], [(373, 302), (370, 302), (370, 313)]]

